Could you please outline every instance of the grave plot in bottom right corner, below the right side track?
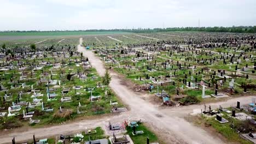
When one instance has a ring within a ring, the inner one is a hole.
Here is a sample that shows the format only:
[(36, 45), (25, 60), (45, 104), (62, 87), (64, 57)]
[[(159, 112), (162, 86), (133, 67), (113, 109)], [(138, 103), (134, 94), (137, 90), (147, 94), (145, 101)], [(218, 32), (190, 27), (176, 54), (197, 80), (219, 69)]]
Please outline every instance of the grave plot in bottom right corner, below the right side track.
[[(195, 116), (197, 122), (205, 123), (206, 127), (213, 127), (220, 134), (224, 135), (230, 142), (249, 143), (254, 142), (255, 131), (255, 98), (249, 104), (237, 104), (224, 109), (205, 110), (201, 116)], [(205, 108), (206, 109), (206, 108)], [(210, 126), (211, 125), (211, 126)], [(241, 139), (241, 137), (244, 139)]]

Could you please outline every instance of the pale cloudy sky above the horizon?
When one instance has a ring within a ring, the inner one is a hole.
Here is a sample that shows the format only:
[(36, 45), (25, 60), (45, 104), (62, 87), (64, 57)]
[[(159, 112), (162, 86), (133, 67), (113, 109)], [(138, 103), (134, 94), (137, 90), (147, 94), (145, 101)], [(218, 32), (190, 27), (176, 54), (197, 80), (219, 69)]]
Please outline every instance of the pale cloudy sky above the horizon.
[(0, 31), (256, 26), (255, 0), (0, 0)]

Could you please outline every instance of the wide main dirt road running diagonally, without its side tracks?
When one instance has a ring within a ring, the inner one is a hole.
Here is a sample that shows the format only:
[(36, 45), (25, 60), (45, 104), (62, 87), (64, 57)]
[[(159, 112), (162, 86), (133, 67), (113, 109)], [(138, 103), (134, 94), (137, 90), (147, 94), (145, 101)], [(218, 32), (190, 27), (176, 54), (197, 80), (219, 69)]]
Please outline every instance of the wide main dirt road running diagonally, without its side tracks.
[[(83, 39), (80, 39), (80, 43), (82, 41)], [(104, 64), (100, 58), (96, 57), (92, 51), (86, 51), (80, 45), (78, 45), (78, 51), (88, 57), (92, 67), (96, 68), (100, 75), (104, 74)], [(142, 121), (150, 123), (151, 127), (155, 128), (156, 133), (162, 132), (161, 135), (166, 137), (166, 141), (172, 143), (224, 143), (173, 113), (161, 112), (158, 107), (141, 99), (138, 94), (123, 85), (125, 80), (120, 79), (118, 74), (110, 72), (110, 75), (112, 75), (110, 88), (131, 108), (129, 117), (141, 117)]]

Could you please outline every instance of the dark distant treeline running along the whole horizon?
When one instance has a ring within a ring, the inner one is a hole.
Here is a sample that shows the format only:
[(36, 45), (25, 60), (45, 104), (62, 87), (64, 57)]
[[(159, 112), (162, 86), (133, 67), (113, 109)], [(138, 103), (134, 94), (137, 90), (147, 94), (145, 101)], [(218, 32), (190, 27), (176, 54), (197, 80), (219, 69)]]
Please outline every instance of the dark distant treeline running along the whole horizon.
[[(3, 32), (131, 32), (131, 33), (152, 33), (152, 32), (228, 32), (228, 33), (256, 33), (256, 26), (238, 27), (172, 27), (172, 28), (138, 28), (138, 29), (89, 29), (78, 31), (1, 31)], [(0, 33), (1, 33), (0, 32)]]

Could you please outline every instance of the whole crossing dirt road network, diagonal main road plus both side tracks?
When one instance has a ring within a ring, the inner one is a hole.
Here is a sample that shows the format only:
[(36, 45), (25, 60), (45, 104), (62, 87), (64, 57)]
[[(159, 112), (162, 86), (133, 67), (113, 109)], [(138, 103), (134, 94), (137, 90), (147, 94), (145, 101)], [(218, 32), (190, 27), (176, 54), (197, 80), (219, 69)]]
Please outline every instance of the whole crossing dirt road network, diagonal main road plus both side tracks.
[[(82, 44), (83, 39), (80, 39)], [(88, 57), (92, 67), (96, 68), (100, 75), (105, 72), (104, 64), (98, 57), (94, 55), (92, 51), (85, 50), (84, 47), (78, 45), (78, 51), (83, 52), (83, 56)], [(63, 125), (57, 125), (49, 128), (40, 129), (28, 129), (22, 133), (5, 133), (0, 136), (0, 143), (10, 142), (13, 136), (16, 141), (31, 139), (35, 134), (37, 137), (46, 137), (57, 134), (70, 133), (71, 131), (83, 130), (85, 127), (97, 127), (102, 126), (106, 121), (123, 121), (124, 119), (142, 119), (143, 122), (147, 122), (149, 127), (155, 131), (166, 143), (226, 143), (220, 140), (218, 137), (213, 137), (207, 131), (195, 127), (193, 124), (185, 121), (184, 117), (190, 113), (200, 113), (203, 109), (202, 105), (191, 105), (184, 107), (168, 107), (162, 109), (156, 105), (149, 103), (142, 97), (147, 95), (139, 95), (123, 85), (124, 79), (120, 79), (120, 76), (114, 72), (110, 72), (112, 75), (112, 81), (110, 87), (113, 91), (130, 107), (130, 111), (121, 113), (118, 116), (112, 116), (108, 118), (82, 120), (79, 122), (73, 122)], [(249, 103), (251, 97), (235, 98), (228, 101), (211, 104), (213, 108), (219, 105), (230, 106), (235, 105), (236, 101), (240, 101), (241, 104)]]

